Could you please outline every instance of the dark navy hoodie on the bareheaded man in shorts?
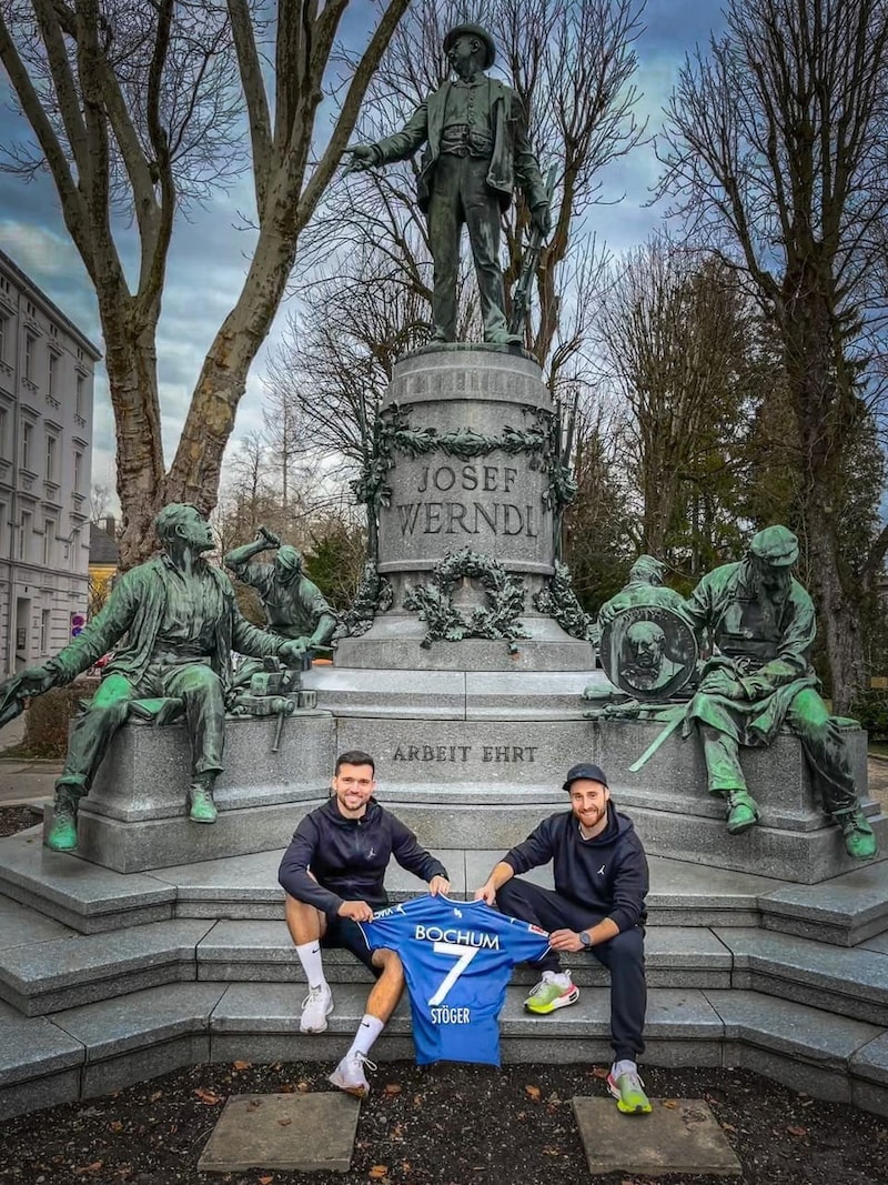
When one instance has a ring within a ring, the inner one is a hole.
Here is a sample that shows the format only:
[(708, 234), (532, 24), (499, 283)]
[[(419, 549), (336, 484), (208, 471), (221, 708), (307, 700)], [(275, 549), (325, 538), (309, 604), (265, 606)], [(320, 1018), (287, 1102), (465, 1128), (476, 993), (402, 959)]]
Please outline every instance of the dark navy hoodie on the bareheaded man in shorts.
[(368, 800), (360, 819), (346, 819), (332, 795), (301, 820), (277, 879), (296, 901), (323, 914), (335, 914), (343, 901), (366, 901), (380, 909), (388, 904), (382, 879), (392, 856), (425, 882), (449, 879), (440, 860), (420, 847), (413, 832), (375, 799)]

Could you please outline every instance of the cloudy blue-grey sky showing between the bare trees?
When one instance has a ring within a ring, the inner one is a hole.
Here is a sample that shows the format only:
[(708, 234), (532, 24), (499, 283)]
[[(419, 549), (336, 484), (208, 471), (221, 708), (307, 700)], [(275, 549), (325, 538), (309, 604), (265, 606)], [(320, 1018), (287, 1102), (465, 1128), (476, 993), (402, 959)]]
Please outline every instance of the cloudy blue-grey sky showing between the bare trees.
[[(365, 0), (353, 0), (350, 20), (360, 20)], [(706, 43), (713, 28), (722, 26), (720, 6), (713, 0), (648, 0), (645, 31), (637, 43), (637, 85), (643, 95), (639, 113), (650, 116), (656, 130), (659, 113), (684, 55)], [(14, 115), (8, 84), (0, 78), (0, 142), (21, 139), (27, 129)], [(609, 198), (625, 194), (618, 205), (601, 206), (594, 223), (599, 239), (613, 251), (642, 242), (657, 219), (646, 209), (656, 178), (650, 148), (639, 147), (613, 166), (605, 178)], [(250, 209), (250, 185), (244, 179), (227, 196), (220, 194), (191, 222), (180, 222), (170, 251), (157, 352), (165, 425), (165, 449), (169, 461), (179, 438), (185, 409), (201, 361), (213, 335), (233, 305), (243, 283), (252, 238), (238, 230), (239, 211)], [(49, 177), (25, 184), (0, 173), (0, 249), (6, 251), (44, 292), (102, 348), (92, 289), (83, 264), (67, 237), (56, 191)], [(278, 315), (283, 325), (287, 307)], [(277, 329), (269, 345), (274, 346)], [(238, 414), (234, 440), (260, 427), (263, 354), (253, 366)], [(114, 486), (114, 419), (107, 395), (104, 370), (96, 374), (92, 480)]]

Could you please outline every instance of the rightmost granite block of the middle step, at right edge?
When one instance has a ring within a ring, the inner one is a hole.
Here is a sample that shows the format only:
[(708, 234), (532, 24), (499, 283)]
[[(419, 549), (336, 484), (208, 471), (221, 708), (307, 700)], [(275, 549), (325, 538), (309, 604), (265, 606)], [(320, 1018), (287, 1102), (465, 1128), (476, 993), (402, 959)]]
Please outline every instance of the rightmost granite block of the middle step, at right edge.
[(888, 955), (768, 930), (719, 928), (715, 934), (734, 955), (732, 987), (888, 1025)]

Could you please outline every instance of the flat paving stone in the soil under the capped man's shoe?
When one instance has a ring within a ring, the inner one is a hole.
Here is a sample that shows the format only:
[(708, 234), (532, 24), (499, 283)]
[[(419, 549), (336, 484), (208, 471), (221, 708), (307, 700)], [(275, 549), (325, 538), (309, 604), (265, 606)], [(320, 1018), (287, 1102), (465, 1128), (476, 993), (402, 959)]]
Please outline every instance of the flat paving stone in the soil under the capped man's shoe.
[(651, 1098), (649, 1115), (623, 1115), (613, 1100), (573, 1098), (588, 1170), (645, 1177), (740, 1177), (725, 1133), (702, 1098)]

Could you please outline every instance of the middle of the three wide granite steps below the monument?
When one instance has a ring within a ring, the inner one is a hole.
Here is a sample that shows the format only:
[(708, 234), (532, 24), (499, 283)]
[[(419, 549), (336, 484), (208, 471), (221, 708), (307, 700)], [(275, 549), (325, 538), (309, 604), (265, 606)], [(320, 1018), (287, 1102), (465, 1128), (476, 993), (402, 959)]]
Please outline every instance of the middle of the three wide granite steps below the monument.
[[(15, 911), (14, 905), (7, 910)], [(19, 908), (20, 909), (20, 908)], [(32, 918), (21, 917), (27, 927)], [(302, 971), (284, 923), (272, 920), (170, 920), (117, 933), (9, 931), (0, 948), (0, 999), (24, 1016), (45, 1016), (176, 981), (298, 984)], [(43, 930), (39, 927), (43, 925)], [(648, 930), (649, 985), (673, 991), (753, 989), (824, 1007), (839, 1017), (888, 1026), (888, 935), (857, 948), (753, 927), (670, 927)], [(329, 952), (332, 982), (355, 984), (368, 973), (346, 952)], [(594, 959), (565, 965), (583, 987), (607, 984)], [(533, 968), (513, 982), (526, 992)]]

